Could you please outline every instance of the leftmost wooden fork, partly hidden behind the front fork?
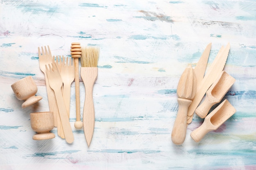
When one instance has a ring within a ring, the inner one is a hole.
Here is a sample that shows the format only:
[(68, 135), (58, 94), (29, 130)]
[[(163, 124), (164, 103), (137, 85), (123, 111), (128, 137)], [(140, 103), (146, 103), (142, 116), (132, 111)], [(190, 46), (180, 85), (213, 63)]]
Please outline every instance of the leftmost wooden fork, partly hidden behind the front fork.
[(54, 114), (54, 126), (57, 127), (57, 112), (58, 112), (57, 103), (56, 103), (54, 91), (49, 86), (49, 81), (48, 81), (48, 77), (45, 69), (45, 65), (52, 63), (52, 53), (49, 46), (48, 46), (48, 51), (46, 49), (46, 46), (45, 46), (45, 50), (43, 49), (43, 46), (41, 47), (41, 49), (42, 49), (42, 52), (40, 52), (40, 48), (38, 47), (39, 66), (40, 66), (40, 70), (45, 74), (45, 84), (47, 89), (49, 109)]

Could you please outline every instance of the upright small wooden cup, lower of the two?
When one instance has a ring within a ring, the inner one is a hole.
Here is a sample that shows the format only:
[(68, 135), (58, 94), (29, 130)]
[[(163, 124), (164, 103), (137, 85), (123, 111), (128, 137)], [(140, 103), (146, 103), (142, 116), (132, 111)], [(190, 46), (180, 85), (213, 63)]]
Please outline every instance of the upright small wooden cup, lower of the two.
[(33, 136), (34, 140), (52, 139), (55, 137), (50, 132), (54, 128), (53, 112), (30, 113), (31, 128), (37, 132)]

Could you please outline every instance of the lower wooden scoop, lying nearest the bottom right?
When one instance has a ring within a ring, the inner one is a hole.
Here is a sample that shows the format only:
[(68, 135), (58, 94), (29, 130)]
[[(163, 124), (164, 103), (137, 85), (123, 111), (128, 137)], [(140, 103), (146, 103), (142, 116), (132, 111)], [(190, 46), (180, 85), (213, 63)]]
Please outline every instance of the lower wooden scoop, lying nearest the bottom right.
[(225, 99), (218, 107), (216, 107), (207, 117), (204, 119), (204, 123), (193, 132), (190, 136), (196, 142), (201, 139), (210, 131), (218, 129), (229, 117), (234, 115), (236, 109)]

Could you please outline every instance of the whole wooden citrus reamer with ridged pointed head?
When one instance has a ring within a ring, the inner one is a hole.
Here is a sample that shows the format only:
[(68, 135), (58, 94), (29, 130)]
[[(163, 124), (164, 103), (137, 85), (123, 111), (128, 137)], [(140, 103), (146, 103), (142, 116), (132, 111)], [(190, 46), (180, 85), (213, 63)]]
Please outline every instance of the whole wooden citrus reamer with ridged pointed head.
[(186, 138), (187, 111), (196, 92), (196, 77), (191, 65), (187, 67), (180, 77), (177, 86), (179, 110), (173, 125), (171, 139), (174, 144), (180, 145)]

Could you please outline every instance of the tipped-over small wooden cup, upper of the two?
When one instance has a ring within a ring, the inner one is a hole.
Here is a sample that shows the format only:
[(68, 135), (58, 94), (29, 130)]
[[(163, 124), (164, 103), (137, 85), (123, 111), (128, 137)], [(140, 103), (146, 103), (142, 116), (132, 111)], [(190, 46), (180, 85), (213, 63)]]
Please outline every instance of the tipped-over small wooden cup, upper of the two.
[(11, 88), (17, 99), (25, 100), (25, 102), (21, 105), (22, 108), (35, 104), (40, 99), (42, 99), (41, 96), (35, 96), (37, 92), (37, 86), (32, 76), (27, 76), (23, 79), (20, 79), (18, 82), (13, 83)]

